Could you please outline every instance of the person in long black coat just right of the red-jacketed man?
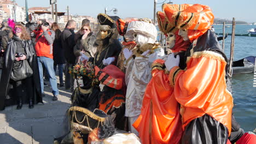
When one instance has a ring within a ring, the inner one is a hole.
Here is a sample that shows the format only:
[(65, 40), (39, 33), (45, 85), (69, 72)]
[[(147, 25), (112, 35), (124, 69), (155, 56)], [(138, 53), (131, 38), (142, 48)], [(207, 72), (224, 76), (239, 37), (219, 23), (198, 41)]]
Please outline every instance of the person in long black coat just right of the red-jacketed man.
[(56, 22), (54, 22), (51, 27), (51, 29), (55, 32), (55, 39), (53, 43), (54, 71), (56, 71), (58, 66), (60, 87), (63, 87), (63, 68), (66, 61), (64, 57), (64, 49), (61, 45), (61, 31), (59, 29), (59, 25)]

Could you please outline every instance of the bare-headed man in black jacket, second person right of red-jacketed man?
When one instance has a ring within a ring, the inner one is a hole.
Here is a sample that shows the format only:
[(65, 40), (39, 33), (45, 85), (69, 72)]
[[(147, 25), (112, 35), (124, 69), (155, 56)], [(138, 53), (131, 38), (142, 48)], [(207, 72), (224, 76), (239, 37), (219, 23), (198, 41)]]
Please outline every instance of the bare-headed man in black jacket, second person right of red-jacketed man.
[(69, 20), (65, 29), (61, 33), (61, 44), (62, 48), (65, 51), (66, 67), (65, 67), (65, 88), (71, 89), (71, 92), (74, 91), (74, 78), (71, 74), (68, 73), (68, 68), (74, 66), (75, 56), (73, 48), (75, 46), (74, 41), (74, 29), (77, 26), (77, 23), (74, 20)]

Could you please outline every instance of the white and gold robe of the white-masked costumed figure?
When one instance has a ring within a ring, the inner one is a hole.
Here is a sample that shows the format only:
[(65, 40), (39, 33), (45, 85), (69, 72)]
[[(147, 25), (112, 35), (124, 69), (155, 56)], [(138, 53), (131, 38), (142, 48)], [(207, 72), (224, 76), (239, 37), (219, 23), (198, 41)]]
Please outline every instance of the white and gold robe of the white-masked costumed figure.
[(134, 117), (141, 113), (143, 95), (151, 79), (148, 57), (130, 57), (126, 65), (125, 83), (127, 86), (125, 116)]

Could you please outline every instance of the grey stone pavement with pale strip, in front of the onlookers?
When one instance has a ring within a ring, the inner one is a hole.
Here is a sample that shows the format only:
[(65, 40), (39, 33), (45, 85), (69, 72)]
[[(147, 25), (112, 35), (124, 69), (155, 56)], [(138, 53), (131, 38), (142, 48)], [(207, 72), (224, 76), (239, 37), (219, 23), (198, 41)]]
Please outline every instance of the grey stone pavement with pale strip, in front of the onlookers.
[(16, 110), (16, 105), (5, 107), (0, 111), (0, 143), (53, 143), (55, 137), (63, 135), (63, 119), (66, 110), (71, 105), (71, 91), (59, 87), (60, 95), (57, 101), (52, 101), (51, 88), (44, 87), (44, 104), (34, 105), (28, 109), (23, 105)]

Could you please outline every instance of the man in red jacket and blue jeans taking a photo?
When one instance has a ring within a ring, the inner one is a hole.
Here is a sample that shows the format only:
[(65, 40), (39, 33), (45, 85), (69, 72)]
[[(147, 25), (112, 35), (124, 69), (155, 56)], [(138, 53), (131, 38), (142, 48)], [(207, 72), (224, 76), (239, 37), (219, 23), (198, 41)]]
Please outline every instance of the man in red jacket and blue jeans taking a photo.
[(42, 22), (41, 30), (36, 37), (36, 52), (38, 67), (40, 73), (40, 83), (42, 94), (44, 95), (44, 80), (43, 80), (43, 67), (49, 74), (50, 85), (53, 88), (53, 101), (57, 100), (59, 95), (59, 89), (57, 88), (57, 80), (54, 73), (54, 61), (53, 61), (53, 43), (55, 39), (55, 32), (50, 28), (48, 22)]

